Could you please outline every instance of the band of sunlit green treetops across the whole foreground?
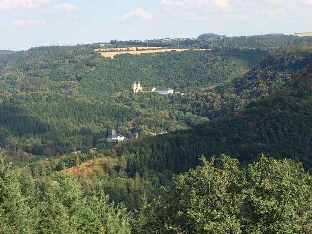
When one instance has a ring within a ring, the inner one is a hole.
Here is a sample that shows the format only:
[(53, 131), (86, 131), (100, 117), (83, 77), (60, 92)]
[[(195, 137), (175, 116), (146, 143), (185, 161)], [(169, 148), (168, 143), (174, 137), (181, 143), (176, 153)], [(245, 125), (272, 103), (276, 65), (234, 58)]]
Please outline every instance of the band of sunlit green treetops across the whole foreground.
[[(203, 165), (195, 170), (174, 176), (173, 184), (152, 202), (144, 198), (148, 184), (138, 174), (128, 181), (137, 190), (121, 190), (120, 178), (115, 189), (127, 197), (137, 195), (136, 202), (141, 204), (130, 212), (122, 204), (109, 202), (108, 190), (101, 183), (84, 195), (76, 179), (54, 173), (34, 180), (27, 168), (13, 170), (0, 157), (0, 232), (312, 232), (312, 176), (301, 164), (262, 157), (240, 169), (238, 160), (224, 155), (201, 160)], [(99, 182), (109, 176), (105, 175)]]

